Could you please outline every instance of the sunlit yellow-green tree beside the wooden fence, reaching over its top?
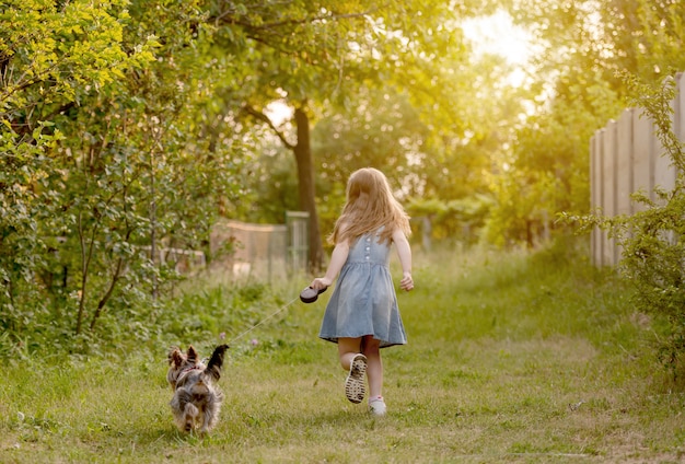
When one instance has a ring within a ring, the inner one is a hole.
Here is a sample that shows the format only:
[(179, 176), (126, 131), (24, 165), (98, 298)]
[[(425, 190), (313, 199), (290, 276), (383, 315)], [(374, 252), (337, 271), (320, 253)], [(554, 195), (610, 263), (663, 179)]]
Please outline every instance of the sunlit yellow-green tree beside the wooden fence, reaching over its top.
[(560, 211), (588, 212), (590, 138), (629, 94), (622, 72), (647, 82), (682, 71), (683, 2), (536, 0), (512, 9), (541, 48), (510, 167), (496, 179), (489, 241), (535, 243)]

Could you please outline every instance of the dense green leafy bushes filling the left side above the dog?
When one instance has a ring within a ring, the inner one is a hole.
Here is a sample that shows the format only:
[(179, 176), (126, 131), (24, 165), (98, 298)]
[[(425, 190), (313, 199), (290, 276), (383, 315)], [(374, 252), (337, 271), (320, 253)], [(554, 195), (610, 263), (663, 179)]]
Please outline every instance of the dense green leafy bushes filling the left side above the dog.
[(171, 289), (162, 248), (209, 252), (241, 143), (202, 137), (217, 73), (197, 3), (1, 11), (0, 322), (16, 346), (86, 350)]

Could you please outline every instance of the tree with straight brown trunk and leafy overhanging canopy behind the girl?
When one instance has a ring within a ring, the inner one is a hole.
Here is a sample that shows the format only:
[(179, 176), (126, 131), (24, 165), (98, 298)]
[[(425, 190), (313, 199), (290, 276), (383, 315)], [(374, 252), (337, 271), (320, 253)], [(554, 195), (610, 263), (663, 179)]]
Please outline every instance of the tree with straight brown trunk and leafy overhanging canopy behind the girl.
[[(242, 58), (247, 63), (239, 85), (225, 93), (242, 98), (244, 113), (271, 127), (295, 155), (300, 205), (310, 212), (312, 223), (312, 269), (320, 268), (323, 259), (309, 140), (312, 118), (328, 102), (355, 102), (359, 85), (379, 88), (383, 82), (404, 81), (426, 89), (429, 72), (434, 71), (428, 63), (451, 37), (440, 34), (443, 24), (450, 23), (448, 7), (418, 0), (278, 8), (259, 1), (212, 3), (209, 23), (222, 28), (227, 50), (244, 48)], [(293, 108), (295, 141), (289, 141), (265, 112), (275, 100), (285, 100)]]

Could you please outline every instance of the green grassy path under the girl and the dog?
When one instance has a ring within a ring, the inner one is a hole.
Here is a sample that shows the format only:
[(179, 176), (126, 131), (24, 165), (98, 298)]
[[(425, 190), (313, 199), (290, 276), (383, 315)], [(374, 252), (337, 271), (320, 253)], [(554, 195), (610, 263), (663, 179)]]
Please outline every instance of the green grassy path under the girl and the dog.
[[(120, 362), (10, 362), (0, 462), (682, 462), (685, 395), (655, 363), (649, 320), (576, 256), (417, 255), (417, 289), (399, 294), (409, 344), (383, 351), (383, 419), (345, 399), (335, 346), (316, 337), (327, 293), (232, 343), (221, 420), (204, 439), (173, 426), (167, 346)], [(251, 321), (302, 283), (256, 302)], [(209, 355), (213, 336), (184, 343)]]

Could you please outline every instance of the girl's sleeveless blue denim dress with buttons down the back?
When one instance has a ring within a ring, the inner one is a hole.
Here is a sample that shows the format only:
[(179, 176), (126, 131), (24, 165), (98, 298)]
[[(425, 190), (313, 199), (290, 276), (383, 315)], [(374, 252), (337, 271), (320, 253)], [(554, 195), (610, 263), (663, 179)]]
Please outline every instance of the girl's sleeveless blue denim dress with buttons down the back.
[(318, 334), (324, 340), (373, 335), (381, 348), (407, 343), (390, 274), (391, 246), (374, 235), (362, 235), (350, 247), (326, 305)]

